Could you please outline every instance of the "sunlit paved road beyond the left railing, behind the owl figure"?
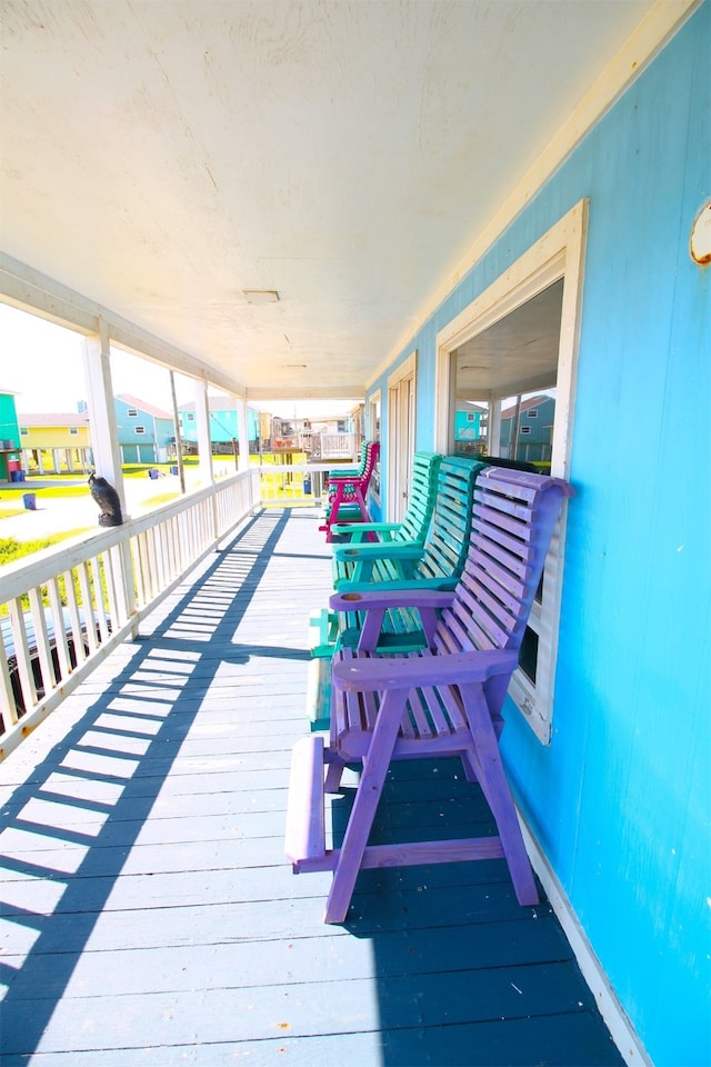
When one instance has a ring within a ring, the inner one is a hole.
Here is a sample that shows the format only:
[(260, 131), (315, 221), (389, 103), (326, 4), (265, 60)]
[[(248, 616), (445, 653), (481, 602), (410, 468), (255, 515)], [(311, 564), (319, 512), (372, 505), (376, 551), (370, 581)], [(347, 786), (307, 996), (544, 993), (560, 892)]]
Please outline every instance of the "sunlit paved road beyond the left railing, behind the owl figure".
[[(216, 476), (218, 471), (216, 470)], [(191, 489), (199, 485), (200, 473), (194, 468), (186, 469), (186, 488)], [(38, 537), (47, 537), (60, 530), (98, 529), (99, 508), (91, 499), (87, 479), (79, 476), (76, 481), (63, 480), (63, 485), (83, 486), (86, 497), (68, 497), (59, 499), (37, 498), (37, 510), (23, 510), (21, 515), (2, 518), (2, 511), (22, 507), (22, 493), (33, 492), (47, 481), (32, 478), (21, 486), (21, 491), (0, 486), (0, 538), (16, 537), (19, 541), (30, 541)], [(19, 488), (19, 487), (18, 487)], [(167, 475), (153, 480), (146, 478), (128, 478), (126, 480), (127, 512), (136, 518), (151, 510), (151, 498), (168, 492), (180, 492), (180, 482), (177, 476)], [(166, 501), (161, 500), (161, 503)]]

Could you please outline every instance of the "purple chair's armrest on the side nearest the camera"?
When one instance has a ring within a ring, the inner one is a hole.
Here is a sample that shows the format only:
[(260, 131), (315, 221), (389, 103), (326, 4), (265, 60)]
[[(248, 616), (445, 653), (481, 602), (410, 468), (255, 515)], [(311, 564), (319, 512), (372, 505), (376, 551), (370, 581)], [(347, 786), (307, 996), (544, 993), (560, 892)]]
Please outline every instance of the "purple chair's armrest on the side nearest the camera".
[(343, 659), (333, 664), (331, 679), (337, 689), (349, 692), (382, 692), (418, 686), (482, 682), (495, 675), (511, 674), (518, 661), (517, 651), (499, 649), (447, 656)]

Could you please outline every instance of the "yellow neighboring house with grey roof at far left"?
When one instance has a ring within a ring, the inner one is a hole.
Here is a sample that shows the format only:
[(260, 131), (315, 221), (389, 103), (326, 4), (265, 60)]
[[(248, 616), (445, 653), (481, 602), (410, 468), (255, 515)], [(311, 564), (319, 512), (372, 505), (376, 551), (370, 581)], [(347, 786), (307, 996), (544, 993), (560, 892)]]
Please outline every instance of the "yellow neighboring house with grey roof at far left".
[(86, 411), (22, 412), (20, 441), (27, 470), (40, 475), (86, 472), (91, 467), (91, 429)]

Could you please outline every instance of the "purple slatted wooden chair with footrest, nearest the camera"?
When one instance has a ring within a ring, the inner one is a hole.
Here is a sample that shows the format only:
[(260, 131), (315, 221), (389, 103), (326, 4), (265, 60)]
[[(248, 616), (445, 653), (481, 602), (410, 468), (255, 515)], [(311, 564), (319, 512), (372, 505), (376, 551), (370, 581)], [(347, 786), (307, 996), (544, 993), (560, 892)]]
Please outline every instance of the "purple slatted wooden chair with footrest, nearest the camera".
[[(330, 744), (294, 747), (287, 856), (294, 872), (332, 870), (326, 921), (346, 918), (358, 872), (368, 867), (504, 857), (521, 905), (538, 903), (513, 799), (499, 754), (501, 707), (563, 499), (557, 478), (489, 467), (477, 479), (471, 545), (453, 592), (346, 594), (378, 621), (393, 606), (417, 607), (429, 647), (404, 656), (358, 649), (334, 656)], [(341, 597), (331, 607), (343, 610)], [(363, 635), (377, 634), (377, 625)], [(497, 837), (369, 845), (391, 760), (461, 758), (494, 816)], [(361, 776), (340, 848), (326, 848), (324, 789), (339, 790), (347, 765)], [(324, 778), (324, 768), (328, 768)]]

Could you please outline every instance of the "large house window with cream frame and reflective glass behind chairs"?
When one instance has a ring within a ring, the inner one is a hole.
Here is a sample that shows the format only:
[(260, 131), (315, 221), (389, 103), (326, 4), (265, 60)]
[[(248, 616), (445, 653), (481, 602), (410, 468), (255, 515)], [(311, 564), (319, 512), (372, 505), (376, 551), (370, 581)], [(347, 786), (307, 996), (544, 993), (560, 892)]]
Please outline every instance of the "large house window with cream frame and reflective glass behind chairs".
[[(531, 435), (520, 416), (539, 417), (538, 410), (521, 410), (524, 398), (543, 395), (554, 401), (552, 419), (545, 419), (552, 422), (550, 440), (527, 442), (530, 456), (519, 451), (518, 458), (569, 478), (585, 230), (587, 202), (581, 201), (440, 331), (437, 451), (453, 451), (457, 405), (470, 401), (487, 407), (488, 453), (513, 457), (517, 423), (521, 435)], [(502, 418), (512, 405), (517, 416)], [(565, 508), (509, 687), (509, 696), (545, 745), (552, 734), (564, 544)]]

